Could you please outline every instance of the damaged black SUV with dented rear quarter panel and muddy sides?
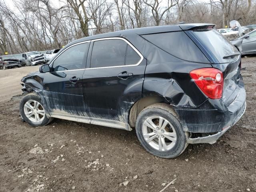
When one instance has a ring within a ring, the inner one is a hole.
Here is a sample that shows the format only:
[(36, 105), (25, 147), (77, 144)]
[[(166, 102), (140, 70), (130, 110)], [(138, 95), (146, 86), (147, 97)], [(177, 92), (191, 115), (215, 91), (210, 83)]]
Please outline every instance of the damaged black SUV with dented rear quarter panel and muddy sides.
[(180, 155), (216, 142), (244, 114), (238, 50), (213, 24), (138, 28), (89, 36), (22, 78), (20, 114), (132, 130), (150, 153)]

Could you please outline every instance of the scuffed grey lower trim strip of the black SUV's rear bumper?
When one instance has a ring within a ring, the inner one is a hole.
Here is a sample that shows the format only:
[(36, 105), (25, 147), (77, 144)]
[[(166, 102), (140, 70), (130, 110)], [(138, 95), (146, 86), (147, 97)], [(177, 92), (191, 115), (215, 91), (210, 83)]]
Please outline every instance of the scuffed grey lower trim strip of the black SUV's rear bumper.
[(226, 127), (226, 128), (223, 128), (222, 131), (218, 132), (217, 134), (214, 134), (214, 135), (209, 135), (209, 136), (206, 136), (206, 137), (199, 137), (199, 138), (188, 138), (187, 142), (189, 144), (197, 144), (197, 143), (209, 143), (209, 144), (214, 144), (218, 138), (220, 138), (224, 133), (226, 133), (234, 124), (236, 124), (236, 122), (238, 122), (238, 120), (240, 120), (240, 118), (243, 116), (244, 112), (246, 110), (246, 102), (244, 103), (244, 110), (242, 112), (242, 114), (236, 119), (236, 121)]

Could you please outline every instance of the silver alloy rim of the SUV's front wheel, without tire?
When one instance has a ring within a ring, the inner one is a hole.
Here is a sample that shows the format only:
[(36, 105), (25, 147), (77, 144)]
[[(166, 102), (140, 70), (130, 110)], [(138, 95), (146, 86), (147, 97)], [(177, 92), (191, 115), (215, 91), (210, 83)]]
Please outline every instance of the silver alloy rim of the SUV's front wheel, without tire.
[(40, 123), (45, 118), (45, 111), (38, 101), (28, 100), (24, 105), (24, 113), (26, 117), (36, 123)]

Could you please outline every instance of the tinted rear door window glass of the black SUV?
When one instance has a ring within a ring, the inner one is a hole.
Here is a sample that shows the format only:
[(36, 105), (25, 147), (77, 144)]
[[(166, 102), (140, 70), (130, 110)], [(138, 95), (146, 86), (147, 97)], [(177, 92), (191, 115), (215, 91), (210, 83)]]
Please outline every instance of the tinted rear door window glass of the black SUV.
[(95, 41), (92, 48), (90, 68), (134, 65), (140, 56), (121, 39)]

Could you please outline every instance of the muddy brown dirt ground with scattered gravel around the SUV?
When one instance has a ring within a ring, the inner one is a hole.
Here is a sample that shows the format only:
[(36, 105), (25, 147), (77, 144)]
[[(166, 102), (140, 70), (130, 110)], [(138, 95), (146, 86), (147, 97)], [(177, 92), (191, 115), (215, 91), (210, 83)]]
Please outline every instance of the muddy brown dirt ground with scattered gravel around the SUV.
[(0, 70), (0, 192), (155, 192), (174, 179), (164, 192), (256, 191), (256, 57), (242, 58), (242, 67), (244, 116), (216, 144), (189, 145), (176, 159), (146, 152), (134, 130), (22, 122), (21, 96), (11, 97), (21, 93), (20, 78), (36, 68)]

